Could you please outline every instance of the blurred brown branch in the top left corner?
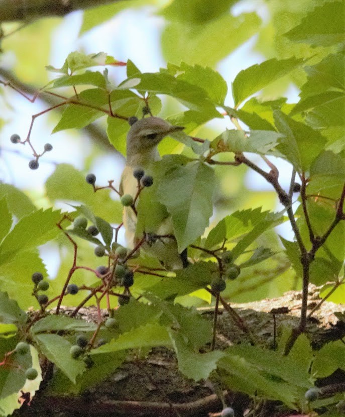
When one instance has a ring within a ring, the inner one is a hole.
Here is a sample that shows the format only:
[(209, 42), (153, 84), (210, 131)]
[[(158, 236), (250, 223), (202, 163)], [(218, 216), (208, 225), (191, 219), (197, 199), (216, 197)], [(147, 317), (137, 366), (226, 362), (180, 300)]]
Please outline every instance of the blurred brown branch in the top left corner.
[(75, 10), (119, 1), (125, 0), (0, 0), (0, 23), (65, 16)]

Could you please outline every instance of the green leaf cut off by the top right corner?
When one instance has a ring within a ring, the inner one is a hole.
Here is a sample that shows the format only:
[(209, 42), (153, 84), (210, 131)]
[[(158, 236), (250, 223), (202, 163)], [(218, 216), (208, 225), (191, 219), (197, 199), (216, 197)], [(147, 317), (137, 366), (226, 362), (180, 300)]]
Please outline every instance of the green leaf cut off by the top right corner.
[(301, 23), (285, 33), (290, 41), (311, 46), (329, 46), (344, 40), (345, 9), (343, 3), (325, 2), (309, 12)]

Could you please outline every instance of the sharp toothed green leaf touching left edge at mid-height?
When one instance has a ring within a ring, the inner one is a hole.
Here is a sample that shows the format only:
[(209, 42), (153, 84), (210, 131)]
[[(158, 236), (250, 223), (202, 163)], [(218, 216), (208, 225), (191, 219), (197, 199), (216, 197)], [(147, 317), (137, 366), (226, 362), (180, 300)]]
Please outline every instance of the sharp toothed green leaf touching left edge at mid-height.
[(10, 256), (56, 238), (61, 233), (56, 226), (60, 218), (60, 211), (52, 209), (38, 210), (23, 217), (0, 246), (0, 265), (8, 262)]

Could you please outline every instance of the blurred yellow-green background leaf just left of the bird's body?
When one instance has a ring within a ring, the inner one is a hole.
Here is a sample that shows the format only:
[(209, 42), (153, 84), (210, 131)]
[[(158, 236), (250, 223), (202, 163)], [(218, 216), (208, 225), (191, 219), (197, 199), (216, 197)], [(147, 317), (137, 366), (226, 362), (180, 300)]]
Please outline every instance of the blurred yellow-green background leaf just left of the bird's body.
[(87, 204), (96, 216), (110, 223), (122, 222), (123, 206), (113, 201), (110, 190), (94, 192), (85, 177), (72, 165), (59, 164), (46, 181), (47, 197), (51, 201), (78, 201)]

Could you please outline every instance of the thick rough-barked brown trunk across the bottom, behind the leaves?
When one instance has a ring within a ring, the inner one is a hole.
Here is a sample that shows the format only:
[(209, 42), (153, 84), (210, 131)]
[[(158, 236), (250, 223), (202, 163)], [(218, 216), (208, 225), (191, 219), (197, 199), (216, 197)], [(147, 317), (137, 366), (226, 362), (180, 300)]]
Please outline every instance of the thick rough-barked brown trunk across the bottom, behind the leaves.
[[(320, 299), (315, 286), (309, 287), (308, 309), (311, 310)], [(265, 299), (257, 302), (231, 304), (236, 312), (245, 320), (248, 328), (257, 337), (261, 346), (272, 344), (273, 314), (276, 314), (279, 333), (281, 325), (295, 326), (298, 323), (301, 306), (301, 292), (289, 291), (280, 298)], [(68, 314), (72, 311), (64, 307)], [(345, 311), (345, 305), (336, 305), (325, 301), (308, 320), (307, 334), (314, 349), (319, 349), (330, 340), (345, 335), (345, 324), (334, 316), (335, 311)], [(202, 314), (212, 320), (213, 310), (205, 308)], [(88, 321), (96, 318), (96, 308), (88, 307), (80, 310), (80, 315)], [(104, 311), (104, 315), (106, 312)], [(248, 343), (249, 339), (231, 321), (226, 311), (220, 308), (217, 325), (216, 348), (223, 349), (237, 343)], [(329, 387), (338, 386), (338, 391), (345, 390), (345, 373), (335, 372), (326, 378), (325, 393)], [(218, 392), (224, 387), (218, 387)], [(253, 403), (246, 395), (235, 392), (223, 392), (225, 401), (232, 405), (236, 417), (251, 409)], [(262, 405), (260, 415), (265, 417), (292, 416), (293, 411), (281, 407), (274, 401)], [(222, 409), (214, 386), (210, 381), (194, 382), (184, 378), (177, 370), (175, 354), (168, 349), (153, 349), (144, 361), (128, 360), (116, 372), (103, 382), (95, 385), (79, 396), (54, 397), (40, 392), (32, 401), (31, 406), (24, 406), (15, 415), (18, 417), (168, 417), (194, 416), (205, 417), (219, 415)], [(278, 411), (279, 410), (279, 411)], [(215, 413), (215, 414), (213, 414)], [(259, 414), (256, 414), (259, 415)]]

